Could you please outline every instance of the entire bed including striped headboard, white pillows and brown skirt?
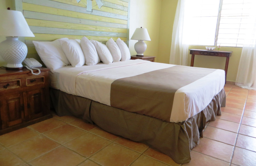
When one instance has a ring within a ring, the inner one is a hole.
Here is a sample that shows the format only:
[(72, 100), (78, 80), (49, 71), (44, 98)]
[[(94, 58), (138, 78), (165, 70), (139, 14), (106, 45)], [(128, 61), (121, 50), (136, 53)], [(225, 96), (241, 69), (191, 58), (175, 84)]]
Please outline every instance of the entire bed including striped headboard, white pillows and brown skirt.
[[(29, 19), (28, 25), (36, 36), (25, 38), (28, 56), (37, 56), (35, 46), (38, 59), (51, 70), (50, 94), (59, 116), (82, 118), (107, 132), (145, 143), (177, 163), (187, 163), (206, 122), (215, 120), (221, 114), (220, 107), (225, 106), (225, 72), (128, 60), (130, 1), (121, 2), (122, 9), (119, 2), (111, 4), (113, 13), (92, 10), (90, 14), (81, 4), (68, 2), (19, 0), (14, 6)], [(45, 12), (38, 11), (38, 5)], [(56, 10), (47, 10), (49, 7)], [(114, 13), (117, 8), (125, 15)], [(59, 9), (65, 16), (60, 16)], [(38, 20), (46, 21), (46, 27), (35, 25)], [(51, 21), (62, 24), (56, 27)], [(63, 23), (75, 24), (75, 29)], [(84, 35), (106, 45), (111, 43), (107, 46), (110, 52), (99, 42), (93, 41), (92, 45)], [(75, 39), (65, 42), (66, 37)], [(169, 89), (170, 85), (175, 86)]]

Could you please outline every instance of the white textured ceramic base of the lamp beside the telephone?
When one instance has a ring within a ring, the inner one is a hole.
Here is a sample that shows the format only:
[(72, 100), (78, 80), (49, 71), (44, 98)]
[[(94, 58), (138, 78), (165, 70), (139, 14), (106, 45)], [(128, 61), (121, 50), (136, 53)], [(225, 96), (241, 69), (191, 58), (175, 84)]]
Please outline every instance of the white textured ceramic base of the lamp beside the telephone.
[(27, 53), (26, 44), (19, 41), (18, 37), (6, 37), (6, 40), (0, 43), (0, 56), (7, 62), (6, 69), (22, 69), (21, 63), (26, 58)]

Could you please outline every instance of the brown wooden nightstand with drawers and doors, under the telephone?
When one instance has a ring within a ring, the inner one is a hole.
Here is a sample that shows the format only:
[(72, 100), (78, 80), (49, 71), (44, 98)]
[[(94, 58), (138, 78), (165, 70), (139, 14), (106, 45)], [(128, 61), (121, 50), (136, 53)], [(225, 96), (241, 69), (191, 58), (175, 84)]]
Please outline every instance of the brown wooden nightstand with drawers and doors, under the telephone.
[(52, 117), (49, 69), (39, 69), (39, 75), (26, 68), (0, 69), (0, 135)]

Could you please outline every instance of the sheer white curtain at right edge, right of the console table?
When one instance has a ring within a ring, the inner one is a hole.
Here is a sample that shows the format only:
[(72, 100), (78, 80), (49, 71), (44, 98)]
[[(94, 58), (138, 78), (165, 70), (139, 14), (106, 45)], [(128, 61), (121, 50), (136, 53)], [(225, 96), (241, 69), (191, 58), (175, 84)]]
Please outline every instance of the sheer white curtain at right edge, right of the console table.
[(236, 76), (236, 86), (256, 90), (256, 2), (251, 6), (245, 44)]

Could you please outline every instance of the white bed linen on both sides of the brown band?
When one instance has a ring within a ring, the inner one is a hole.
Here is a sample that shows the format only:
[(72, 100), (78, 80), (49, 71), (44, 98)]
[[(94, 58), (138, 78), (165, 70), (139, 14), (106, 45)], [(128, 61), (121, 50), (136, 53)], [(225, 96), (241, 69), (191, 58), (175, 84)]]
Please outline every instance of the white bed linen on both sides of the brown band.
[[(174, 65), (140, 59), (75, 68), (65, 66), (54, 72), (54, 75), (59, 77), (59, 86), (55, 87), (68, 94), (86, 97), (110, 106), (111, 83), (116, 79), (172, 66)], [(225, 72), (219, 69), (212, 70), (213, 72), (207, 76), (177, 90), (170, 122), (183, 122), (196, 115), (221, 91), (225, 85)]]

